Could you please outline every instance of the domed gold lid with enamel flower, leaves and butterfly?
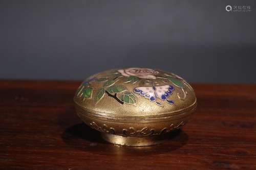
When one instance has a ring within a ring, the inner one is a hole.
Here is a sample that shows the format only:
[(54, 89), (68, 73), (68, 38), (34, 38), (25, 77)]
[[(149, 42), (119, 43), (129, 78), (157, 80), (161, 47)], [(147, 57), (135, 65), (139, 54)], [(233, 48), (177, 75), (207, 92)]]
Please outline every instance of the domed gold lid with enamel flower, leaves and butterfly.
[(120, 118), (170, 116), (197, 104), (193, 89), (184, 79), (149, 68), (99, 72), (82, 82), (74, 101), (88, 113)]

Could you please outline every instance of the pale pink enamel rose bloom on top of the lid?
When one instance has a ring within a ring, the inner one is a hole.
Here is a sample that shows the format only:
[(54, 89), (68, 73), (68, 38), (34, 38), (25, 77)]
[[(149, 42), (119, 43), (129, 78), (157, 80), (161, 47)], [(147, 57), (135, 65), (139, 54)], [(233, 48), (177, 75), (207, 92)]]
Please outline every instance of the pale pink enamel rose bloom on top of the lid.
[(159, 72), (155, 71), (154, 69), (150, 68), (126, 68), (126, 69), (119, 69), (120, 72), (125, 77), (136, 76), (142, 79), (156, 79), (155, 75)]

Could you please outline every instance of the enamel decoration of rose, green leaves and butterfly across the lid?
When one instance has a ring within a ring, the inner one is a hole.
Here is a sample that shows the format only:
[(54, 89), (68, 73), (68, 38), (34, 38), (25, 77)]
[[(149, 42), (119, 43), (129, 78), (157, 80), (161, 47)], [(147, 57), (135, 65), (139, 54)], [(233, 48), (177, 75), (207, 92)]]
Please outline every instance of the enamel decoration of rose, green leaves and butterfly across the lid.
[[(174, 86), (181, 88), (182, 93), (177, 93), (180, 100), (185, 100), (187, 92), (184, 90), (185, 85), (192, 89), (181, 77), (174, 74), (161, 74), (150, 68), (126, 68), (99, 74), (84, 81), (78, 88), (76, 94), (82, 100), (93, 99), (94, 103), (99, 103), (105, 95), (115, 99), (120, 104), (132, 104), (137, 102), (136, 93), (144, 96), (145, 99), (162, 106), (161, 101), (166, 101), (168, 104), (174, 105), (172, 99), (168, 99), (175, 90)], [(156, 76), (158, 75), (158, 76)], [(125, 79), (123, 79), (125, 78)], [(143, 80), (147, 79), (147, 80)], [(152, 80), (153, 79), (153, 80)], [(144, 86), (136, 87), (133, 93), (127, 90), (123, 83), (135, 84), (143, 80)], [(122, 81), (121, 83), (116, 83)], [(163, 82), (165, 85), (160, 85), (158, 82)], [(145, 83), (146, 82), (146, 83)], [(172, 84), (169, 84), (169, 83)], [(92, 83), (100, 83), (100, 87), (94, 89)], [(174, 86), (173, 86), (174, 85)], [(192, 89), (193, 90), (193, 89)], [(93, 95), (93, 91), (95, 94)], [(134, 94), (135, 93), (135, 94)], [(160, 100), (160, 101), (159, 101)]]

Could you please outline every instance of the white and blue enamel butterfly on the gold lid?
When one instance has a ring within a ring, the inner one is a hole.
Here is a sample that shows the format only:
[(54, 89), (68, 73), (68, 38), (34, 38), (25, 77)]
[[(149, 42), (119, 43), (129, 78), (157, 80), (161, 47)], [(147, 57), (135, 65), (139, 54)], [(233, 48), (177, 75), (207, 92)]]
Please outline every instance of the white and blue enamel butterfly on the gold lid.
[(151, 102), (155, 102), (157, 105), (162, 106), (160, 102), (157, 102), (157, 98), (166, 101), (168, 104), (173, 104), (174, 101), (167, 100), (170, 94), (172, 94), (174, 87), (171, 85), (153, 86), (153, 87), (136, 87), (135, 93), (144, 96), (145, 99), (149, 99)]

